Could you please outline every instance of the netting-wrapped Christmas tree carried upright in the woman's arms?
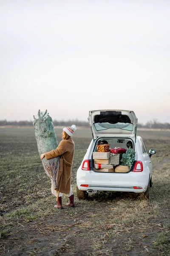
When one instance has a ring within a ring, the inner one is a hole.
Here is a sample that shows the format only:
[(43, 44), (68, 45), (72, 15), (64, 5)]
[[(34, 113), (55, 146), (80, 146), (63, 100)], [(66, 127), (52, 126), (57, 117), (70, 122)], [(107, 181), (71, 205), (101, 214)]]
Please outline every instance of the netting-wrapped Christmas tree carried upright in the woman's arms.
[[(58, 146), (57, 137), (51, 116), (49, 116), (47, 110), (38, 111), (38, 114), (34, 116), (33, 125), (39, 154), (41, 155), (45, 152), (56, 149)], [(46, 160), (44, 157), (42, 159), (42, 165), (45, 173), (51, 179), (51, 191), (52, 187), (54, 189), (58, 189), (57, 175), (59, 170), (59, 157), (54, 157), (49, 160)]]

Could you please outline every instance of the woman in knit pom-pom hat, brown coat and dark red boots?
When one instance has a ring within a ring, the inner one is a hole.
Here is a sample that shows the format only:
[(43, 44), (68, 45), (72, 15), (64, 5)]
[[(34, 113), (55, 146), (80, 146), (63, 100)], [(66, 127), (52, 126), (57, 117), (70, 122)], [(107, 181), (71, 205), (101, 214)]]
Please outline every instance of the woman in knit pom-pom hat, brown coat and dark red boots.
[(60, 141), (58, 147), (50, 152), (41, 154), (41, 160), (45, 157), (47, 160), (60, 156), (59, 160), (59, 172), (57, 177), (58, 184), (58, 196), (57, 205), (54, 207), (58, 209), (63, 209), (62, 207), (62, 194), (69, 197), (70, 203), (66, 204), (70, 207), (74, 207), (74, 194), (71, 189), (71, 166), (74, 157), (74, 141), (72, 136), (74, 131), (76, 131), (76, 125), (71, 125), (70, 127), (63, 128), (62, 140)]

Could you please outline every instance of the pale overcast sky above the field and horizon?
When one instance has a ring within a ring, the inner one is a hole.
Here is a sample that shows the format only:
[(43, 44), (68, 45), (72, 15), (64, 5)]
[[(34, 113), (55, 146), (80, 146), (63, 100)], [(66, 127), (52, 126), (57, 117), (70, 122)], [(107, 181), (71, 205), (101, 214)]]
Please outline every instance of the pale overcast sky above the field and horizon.
[(0, 0), (0, 120), (170, 122), (169, 0)]

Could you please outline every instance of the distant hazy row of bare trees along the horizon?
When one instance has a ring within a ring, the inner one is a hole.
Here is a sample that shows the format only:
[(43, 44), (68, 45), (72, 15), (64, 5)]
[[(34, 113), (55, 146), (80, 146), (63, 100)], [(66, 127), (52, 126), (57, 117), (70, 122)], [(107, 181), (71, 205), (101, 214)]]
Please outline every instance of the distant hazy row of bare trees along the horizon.
[[(54, 126), (68, 126), (70, 124), (74, 124), (76, 126), (82, 126), (82, 127), (90, 127), (89, 123), (87, 121), (79, 121), (77, 119), (70, 119), (68, 121), (57, 121), (57, 120), (53, 120), (53, 124)], [(6, 125), (16, 125), (16, 126), (33, 126), (33, 122), (32, 121), (7, 121), (6, 119), (4, 120), (0, 120), (0, 126), (6, 126)], [(165, 122), (165, 123), (161, 123), (159, 121), (157, 121), (156, 119), (150, 120), (148, 121), (145, 125), (138, 123), (138, 127), (139, 128), (157, 128), (157, 129), (170, 129), (170, 123)]]

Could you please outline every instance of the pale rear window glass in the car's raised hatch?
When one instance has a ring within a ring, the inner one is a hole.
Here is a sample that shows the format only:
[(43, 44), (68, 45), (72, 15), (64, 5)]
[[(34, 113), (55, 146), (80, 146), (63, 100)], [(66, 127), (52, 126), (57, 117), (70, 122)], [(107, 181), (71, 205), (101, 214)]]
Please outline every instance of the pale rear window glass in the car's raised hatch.
[(133, 131), (133, 124), (131, 123), (118, 122), (116, 124), (111, 124), (109, 122), (105, 122), (105, 123), (103, 122), (103, 123), (94, 123), (94, 126), (97, 131), (107, 130), (110, 128), (119, 128), (122, 130)]

